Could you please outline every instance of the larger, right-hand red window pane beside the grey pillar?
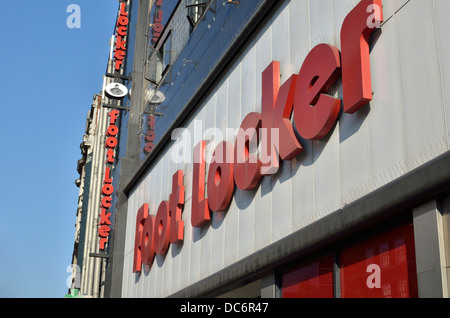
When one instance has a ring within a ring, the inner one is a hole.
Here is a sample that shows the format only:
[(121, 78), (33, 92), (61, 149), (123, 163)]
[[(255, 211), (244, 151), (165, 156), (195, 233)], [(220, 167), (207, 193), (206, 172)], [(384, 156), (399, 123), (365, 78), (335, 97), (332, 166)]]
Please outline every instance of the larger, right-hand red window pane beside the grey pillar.
[(341, 297), (418, 296), (412, 224), (342, 251), (340, 263)]

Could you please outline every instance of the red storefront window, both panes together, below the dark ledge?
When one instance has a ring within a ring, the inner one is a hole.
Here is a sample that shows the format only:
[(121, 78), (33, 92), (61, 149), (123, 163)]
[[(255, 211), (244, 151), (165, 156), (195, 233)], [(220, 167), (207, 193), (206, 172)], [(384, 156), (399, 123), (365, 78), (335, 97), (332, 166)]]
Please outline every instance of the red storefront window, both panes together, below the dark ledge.
[[(283, 274), (283, 298), (418, 297), (412, 223), (336, 250), (335, 255), (336, 260), (330, 254)], [(340, 295), (335, 295), (339, 288)]]

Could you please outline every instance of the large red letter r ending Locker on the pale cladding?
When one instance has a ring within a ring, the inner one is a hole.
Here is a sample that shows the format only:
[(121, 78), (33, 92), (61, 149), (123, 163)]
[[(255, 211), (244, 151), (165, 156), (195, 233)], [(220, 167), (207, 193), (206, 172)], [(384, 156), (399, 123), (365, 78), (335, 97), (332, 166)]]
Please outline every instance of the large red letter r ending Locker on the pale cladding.
[(382, 8), (381, 0), (362, 0), (342, 24), (342, 87), (346, 113), (353, 114), (372, 100), (369, 37), (383, 21)]

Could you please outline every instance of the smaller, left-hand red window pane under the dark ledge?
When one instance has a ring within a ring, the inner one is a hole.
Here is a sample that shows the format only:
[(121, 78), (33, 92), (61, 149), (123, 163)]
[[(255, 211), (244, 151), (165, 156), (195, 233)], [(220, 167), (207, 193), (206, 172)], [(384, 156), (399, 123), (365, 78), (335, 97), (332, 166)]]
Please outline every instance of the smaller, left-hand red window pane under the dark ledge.
[(283, 275), (283, 298), (333, 298), (333, 256)]

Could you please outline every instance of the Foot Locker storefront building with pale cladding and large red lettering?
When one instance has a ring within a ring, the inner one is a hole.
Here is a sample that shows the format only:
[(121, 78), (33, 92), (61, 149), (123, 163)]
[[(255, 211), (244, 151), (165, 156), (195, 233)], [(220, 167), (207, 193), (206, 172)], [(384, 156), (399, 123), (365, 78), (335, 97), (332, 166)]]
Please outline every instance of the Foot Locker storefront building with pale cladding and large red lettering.
[(448, 1), (170, 3), (128, 3), (105, 297), (448, 297)]

